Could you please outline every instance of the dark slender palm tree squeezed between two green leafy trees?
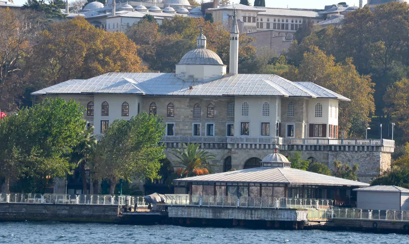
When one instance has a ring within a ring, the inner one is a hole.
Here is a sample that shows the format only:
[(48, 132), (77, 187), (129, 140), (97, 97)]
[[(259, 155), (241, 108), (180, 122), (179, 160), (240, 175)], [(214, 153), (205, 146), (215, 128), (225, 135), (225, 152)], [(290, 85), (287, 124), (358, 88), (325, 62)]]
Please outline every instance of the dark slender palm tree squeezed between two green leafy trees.
[[(84, 126), (82, 131), (81, 141), (73, 148), (73, 151), (70, 156), (71, 163), (74, 163), (76, 167), (79, 167), (81, 170), (81, 180), (83, 192), (87, 190), (87, 178), (85, 176), (85, 167), (90, 167), (91, 160), (97, 146), (97, 140), (93, 135), (94, 127)], [(87, 165), (88, 164), (88, 165)], [(90, 181), (90, 184), (91, 181)]]

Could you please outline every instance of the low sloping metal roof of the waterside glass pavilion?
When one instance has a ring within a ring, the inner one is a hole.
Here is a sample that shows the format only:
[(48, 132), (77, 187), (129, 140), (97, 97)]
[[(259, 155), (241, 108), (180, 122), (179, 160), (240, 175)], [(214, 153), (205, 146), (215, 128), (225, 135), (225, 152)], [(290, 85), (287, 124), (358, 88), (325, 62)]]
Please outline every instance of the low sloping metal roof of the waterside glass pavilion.
[(351, 181), (334, 176), (317, 174), (289, 167), (257, 167), (216, 174), (180, 178), (175, 182), (227, 182), (227, 183), (282, 183), (292, 185), (347, 185), (368, 186), (369, 184)]

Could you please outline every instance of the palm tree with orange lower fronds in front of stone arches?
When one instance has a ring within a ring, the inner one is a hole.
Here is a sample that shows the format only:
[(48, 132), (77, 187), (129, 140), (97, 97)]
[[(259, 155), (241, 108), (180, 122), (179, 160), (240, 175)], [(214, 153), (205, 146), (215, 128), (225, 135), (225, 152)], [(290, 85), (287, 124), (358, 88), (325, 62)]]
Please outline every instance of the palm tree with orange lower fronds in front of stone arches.
[(182, 144), (182, 150), (174, 149), (172, 154), (179, 159), (176, 163), (182, 167), (176, 170), (178, 178), (209, 174), (211, 167), (217, 166), (209, 163), (215, 156), (200, 148), (199, 143)]

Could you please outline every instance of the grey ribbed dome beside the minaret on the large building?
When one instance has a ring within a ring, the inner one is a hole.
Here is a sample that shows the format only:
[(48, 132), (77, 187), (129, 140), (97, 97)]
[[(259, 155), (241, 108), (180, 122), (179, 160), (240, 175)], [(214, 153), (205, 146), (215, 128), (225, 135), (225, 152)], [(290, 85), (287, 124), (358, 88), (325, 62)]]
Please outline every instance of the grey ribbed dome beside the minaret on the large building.
[(216, 64), (223, 65), (222, 59), (212, 50), (196, 48), (183, 55), (179, 64)]

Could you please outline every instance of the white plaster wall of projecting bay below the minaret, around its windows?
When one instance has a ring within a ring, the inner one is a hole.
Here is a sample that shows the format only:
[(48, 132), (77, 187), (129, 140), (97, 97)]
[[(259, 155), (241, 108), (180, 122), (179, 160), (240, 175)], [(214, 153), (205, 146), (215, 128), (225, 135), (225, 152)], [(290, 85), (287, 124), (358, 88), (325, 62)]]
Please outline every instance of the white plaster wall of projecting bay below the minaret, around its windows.
[[(241, 105), (244, 101), (249, 104), (249, 116), (241, 115)], [(270, 103), (270, 116), (262, 115), (262, 105), (264, 102)], [(234, 99), (234, 136), (241, 136), (241, 122), (249, 122), (250, 137), (261, 136), (261, 122), (270, 122), (270, 137), (275, 137), (275, 122), (280, 120), (279, 97), (260, 97), (260, 96), (240, 96)]]

